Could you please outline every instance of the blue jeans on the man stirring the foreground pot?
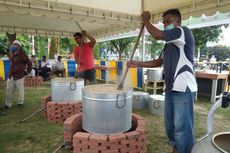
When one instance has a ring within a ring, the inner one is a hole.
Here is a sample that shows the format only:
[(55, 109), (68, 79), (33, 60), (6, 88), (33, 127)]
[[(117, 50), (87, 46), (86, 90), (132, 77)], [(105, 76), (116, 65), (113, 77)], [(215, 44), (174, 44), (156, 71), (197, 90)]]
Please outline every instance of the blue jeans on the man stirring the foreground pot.
[(165, 129), (170, 145), (179, 153), (191, 153), (194, 144), (193, 103), (195, 93), (172, 91), (165, 95)]

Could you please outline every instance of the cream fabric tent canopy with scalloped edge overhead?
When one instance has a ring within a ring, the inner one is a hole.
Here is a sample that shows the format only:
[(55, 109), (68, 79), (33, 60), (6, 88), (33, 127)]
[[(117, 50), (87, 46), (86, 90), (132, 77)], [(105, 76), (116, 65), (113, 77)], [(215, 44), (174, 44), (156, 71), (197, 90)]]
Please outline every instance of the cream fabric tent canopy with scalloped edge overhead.
[(230, 0), (0, 0), (0, 31), (72, 37), (82, 28), (100, 38), (139, 28), (142, 10), (157, 23), (170, 8), (186, 19), (230, 12)]

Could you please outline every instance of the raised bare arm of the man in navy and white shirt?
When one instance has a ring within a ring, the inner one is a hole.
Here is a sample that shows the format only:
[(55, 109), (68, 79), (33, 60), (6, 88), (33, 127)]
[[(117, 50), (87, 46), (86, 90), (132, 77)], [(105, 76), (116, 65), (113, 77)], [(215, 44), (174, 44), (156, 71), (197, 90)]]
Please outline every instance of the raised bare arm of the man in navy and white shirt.
[(143, 21), (144, 25), (146, 26), (146, 28), (147, 28), (148, 32), (150, 33), (150, 35), (153, 38), (155, 38), (156, 40), (163, 40), (164, 39), (163, 31), (157, 29), (150, 22), (150, 19), (151, 19), (150, 12), (149, 11), (143, 12), (141, 17), (142, 17), (142, 21)]

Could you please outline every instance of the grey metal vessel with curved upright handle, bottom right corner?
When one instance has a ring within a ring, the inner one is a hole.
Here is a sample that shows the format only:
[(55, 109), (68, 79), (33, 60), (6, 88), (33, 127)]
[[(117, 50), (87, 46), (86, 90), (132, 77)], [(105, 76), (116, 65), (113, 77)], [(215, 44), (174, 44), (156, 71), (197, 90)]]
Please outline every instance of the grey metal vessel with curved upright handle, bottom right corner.
[(213, 116), (219, 107), (229, 107), (230, 93), (224, 93), (212, 106), (207, 117), (207, 134), (198, 140), (192, 153), (230, 153), (230, 131), (213, 134)]

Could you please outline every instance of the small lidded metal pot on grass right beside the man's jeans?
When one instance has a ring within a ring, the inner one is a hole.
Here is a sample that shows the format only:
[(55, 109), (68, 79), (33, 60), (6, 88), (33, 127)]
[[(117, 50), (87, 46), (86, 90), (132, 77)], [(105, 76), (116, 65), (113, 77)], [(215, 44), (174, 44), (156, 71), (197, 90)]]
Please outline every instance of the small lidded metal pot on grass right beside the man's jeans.
[(149, 112), (154, 115), (164, 116), (165, 96), (163, 95), (150, 95)]

